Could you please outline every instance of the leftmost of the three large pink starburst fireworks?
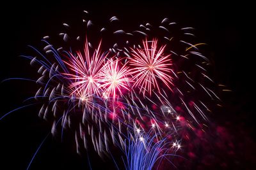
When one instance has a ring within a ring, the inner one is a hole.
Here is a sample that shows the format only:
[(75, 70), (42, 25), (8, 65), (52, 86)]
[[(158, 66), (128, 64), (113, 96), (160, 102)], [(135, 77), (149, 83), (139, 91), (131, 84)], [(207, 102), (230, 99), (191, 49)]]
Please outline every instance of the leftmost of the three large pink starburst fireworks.
[[(85, 96), (100, 95), (100, 72), (104, 66), (104, 60), (108, 53), (100, 52), (100, 44), (98, 48), (91, 54), (89, 51), (88, 41), (84, 44), (84, 52), (76, 52), (76, 55), (70, 54), (70, 60), (65, 62), (73, 73), (64, 73), (69, 80), (72, 80), (69, 88), (72, 90), (71, 94), (84, 94)], [(84, 96), (82, 95), (82, 96)]]

